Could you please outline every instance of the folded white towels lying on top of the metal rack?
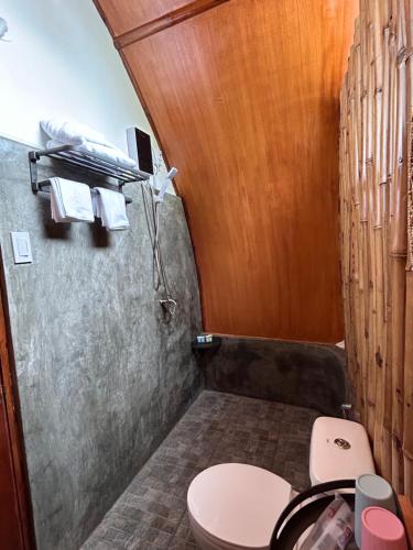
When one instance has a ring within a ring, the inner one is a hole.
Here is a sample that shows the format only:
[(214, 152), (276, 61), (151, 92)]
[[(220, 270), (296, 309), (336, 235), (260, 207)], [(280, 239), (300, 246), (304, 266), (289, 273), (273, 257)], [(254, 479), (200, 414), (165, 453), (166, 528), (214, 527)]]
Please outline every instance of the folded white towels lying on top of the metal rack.
[(111, 146), (106, 141), (105, 135), (86, 124), (76, 121), (68, 121), (62, 119), (41, 120), (40, 125), (46, 134), (61, 143), (67, 145), (80, 145), (84, 141), (98, 143), (100, 145)]

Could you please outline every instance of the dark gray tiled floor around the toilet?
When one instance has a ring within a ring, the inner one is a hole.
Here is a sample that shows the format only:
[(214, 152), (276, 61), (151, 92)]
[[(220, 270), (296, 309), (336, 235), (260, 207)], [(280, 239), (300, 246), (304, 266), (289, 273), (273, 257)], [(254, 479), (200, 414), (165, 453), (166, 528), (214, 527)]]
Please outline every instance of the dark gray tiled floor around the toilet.
[(244, 462), (300, 491), (318, 413), (205, 391), (108, 512), (81, 550), (194, 550), (186, 491), (205, 468)]

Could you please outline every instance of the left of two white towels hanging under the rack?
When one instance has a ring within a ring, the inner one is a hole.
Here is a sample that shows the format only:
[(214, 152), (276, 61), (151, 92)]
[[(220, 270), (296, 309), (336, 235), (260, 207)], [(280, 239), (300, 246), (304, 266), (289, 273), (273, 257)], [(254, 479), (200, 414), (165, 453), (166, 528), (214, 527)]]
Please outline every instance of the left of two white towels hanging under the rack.
[(85, 184), (52, 177), (51, 205), (56, 222), (95, 221), (90, 188)]

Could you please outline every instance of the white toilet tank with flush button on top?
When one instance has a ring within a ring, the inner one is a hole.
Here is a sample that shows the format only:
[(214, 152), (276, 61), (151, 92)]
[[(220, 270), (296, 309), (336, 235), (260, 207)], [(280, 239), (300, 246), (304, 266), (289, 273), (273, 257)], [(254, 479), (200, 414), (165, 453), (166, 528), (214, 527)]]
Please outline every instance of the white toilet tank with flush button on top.
[(341, 418), (317, 418), (309, 448), (312, 485), (352, 480), (374, 472), (369, 439), (361, 424)]

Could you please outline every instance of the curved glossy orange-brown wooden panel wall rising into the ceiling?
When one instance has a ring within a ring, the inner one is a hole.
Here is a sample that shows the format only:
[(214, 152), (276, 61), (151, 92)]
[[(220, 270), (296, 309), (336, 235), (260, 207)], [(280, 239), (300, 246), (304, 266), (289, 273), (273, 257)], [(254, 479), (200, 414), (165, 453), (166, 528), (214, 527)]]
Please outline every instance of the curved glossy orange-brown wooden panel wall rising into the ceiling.
[(182, 196), (207, 331), (343, 338), (338, 94), (357, 0), (96, 0)]

